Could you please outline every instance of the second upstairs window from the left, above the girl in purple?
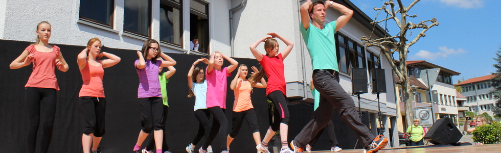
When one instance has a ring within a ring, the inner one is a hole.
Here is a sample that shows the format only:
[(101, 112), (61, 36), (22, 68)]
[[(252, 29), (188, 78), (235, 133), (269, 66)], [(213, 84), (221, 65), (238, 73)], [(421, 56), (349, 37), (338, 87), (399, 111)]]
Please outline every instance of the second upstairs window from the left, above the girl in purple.
[(124, 1), (124, 31), (149, 37), (151, 0)]

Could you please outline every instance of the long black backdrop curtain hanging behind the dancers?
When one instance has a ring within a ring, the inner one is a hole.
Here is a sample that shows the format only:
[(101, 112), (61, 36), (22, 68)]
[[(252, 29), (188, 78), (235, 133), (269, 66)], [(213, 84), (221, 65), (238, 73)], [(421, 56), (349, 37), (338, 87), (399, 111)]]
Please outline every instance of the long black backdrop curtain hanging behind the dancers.
[[(27, 152), (26, 131), (28, 130), (25, 104), (25, 84), (32, 72), (32, 65), (20, 69), (9, 69), (9, 64), (17, 58), (30, 42), (0, 40), (0, 152)], [(70, 66), (67, 72), (56, 70), (60, 91), (57, 92), (57, 108), (54, 121), (54, 132), (49, 152), (82, 152), (82, 123), (78, 112), (78, 92), (82, 78), (76, 63), (77, 55), (85, 46), (56, 44)], [(138, 48), (140, 49), (140, 48)], [(102, 48), (119, 56), (122, 61), (112, 67), (105, 68), (104, 91), (106, 95), (106, 135), (100, 149), (103, 152), (130, 152), (141, 130), (137, 92), (139, 78), (134, 69), (134, 61), (138, 59), (136, 50)], [(250, 54), (250, 53), (249, 53)], [(193, 114), (194, 97), (188, 98), (187, 73), (192, 63), (202, 56), (186, 54), (168, 54), (177, 61), (176, 73), (167, 83), (169, 114), (164, 132), (170, 150), (184, 152), (197, 133), (198, 121)], [(240, 64), (258, 65), (255, 59), (235, 58)], [(229, 65), (225, 62), (224, 66)], [(203, 63), (200, 66), (206, 66)], [(228, 77), (228, 86), (236, 74)], [(286, 72), (286, 74), (288, 74)], [(229, 88), (229, 87), (228, 87)], [(226, 96), (226, 117), (231, 129), (231, 109), (233, 108), (233, 91), (228, 90)], [(265, 90), (255, 88), (252, 95), (253, 105), (258, 117), (261, 137), (268, 129), (268, 108)], [(313, 106), (299, 103), (288, 105), (290, 112), (289, 138), (292, 140), (303, 126), (311, 119)], [(354, 133), (348, 126), (340, 124), (343, 121), (339, 115), (333, 115), (333, 121), (341, 147), (353, 147), (356, 142)], [(243, 123), (239, 135), (232, 143), (232, 152), (255, 152), (252, 133)], [(341, 132), (342, 131), (342, 132)], [(204, 139), (202, 139), (203, 141)], [(217, 138), (215, 140), (218, 140)], [(199, 142), (198, 147), (203, 142)], [(218, 141), (212, 143), (214, 152), (219, 152)], [(327, 136), (322, 136), (313, 149), (330, 149)], [(271, 147), (270, 147), (271, 151)]]

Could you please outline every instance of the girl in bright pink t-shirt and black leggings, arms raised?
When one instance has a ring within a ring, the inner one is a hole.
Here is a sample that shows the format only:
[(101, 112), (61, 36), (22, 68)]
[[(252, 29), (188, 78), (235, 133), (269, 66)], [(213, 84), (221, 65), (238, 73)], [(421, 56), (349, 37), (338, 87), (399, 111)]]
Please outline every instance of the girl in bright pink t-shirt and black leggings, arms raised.
[[(223, 59), (228, 60), (232, 65), (222, 68)], [(207, 152), (207, 147), (216, 138), (216, 134), (219, 134), (221, 152), (226, 153), (228, 149), (224, 144), (226, 144), (226, 136), (228, 135), (228, 120), (226, 115), (224, 115), (224, 110), (226, 109), (226, 77), (231, 76), (231, 72), (237, 68), (238, 62), (234, 59), (223, 55), (220, 52), (215, 52), (211, 54), (209, 58), (209, 66), (206, 70), (206, 80), (207, 80), (207, 109), (214, 116), (212, 122), (211, 133), (203, 146), (200, 147), (198, 152)], [(219, 132), (218, 132), (219, 131)]]

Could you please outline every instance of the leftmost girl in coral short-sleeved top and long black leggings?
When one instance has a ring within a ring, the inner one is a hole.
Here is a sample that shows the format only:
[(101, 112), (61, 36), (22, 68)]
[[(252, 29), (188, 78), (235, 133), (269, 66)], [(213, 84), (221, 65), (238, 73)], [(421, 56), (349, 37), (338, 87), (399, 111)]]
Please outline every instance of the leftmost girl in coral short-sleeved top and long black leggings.
[[(11, 69), (18, 69), (33, 63), (33, 72), (25, 86), (26, 107), (29, 116), (26, 141), (29, 152), (35, 152), (37, 139), (40, 139), (40, 150), (36, 152), (47, 152), (49, 148), (54, 116), (56, 115), (56, 91), (59, 90), (55, 68), (57, 67), (63, 72), (69, 68), (59, 51), (59, 47), (49, 45), (51, 32), (52, 26), (49, 22), (38, 23), (36, 42), (26, 47), (21, 55), (10, 64)], [(41, 137), (37, 138), (40, 123), (43, 123), (41, 124)]]

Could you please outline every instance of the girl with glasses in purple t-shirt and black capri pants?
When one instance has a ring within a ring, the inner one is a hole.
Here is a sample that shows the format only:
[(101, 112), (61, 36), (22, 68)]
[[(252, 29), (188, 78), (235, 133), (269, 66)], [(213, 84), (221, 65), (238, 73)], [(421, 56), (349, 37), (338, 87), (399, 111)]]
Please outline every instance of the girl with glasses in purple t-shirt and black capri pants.
[[(162, 53), (158, 41), (148, 39), (143, 44), (143, 49), (138, 51), (139, 60), (136, 60), (134, 66), (139, 74), (138, 100), (141, 111), (141, 123), (143, 129), (139, 133), (133, 151), (141, 152), (141, 144), (149, 133), (153, 131), (156, 152), (162, 152), (162, 141), (164, 136), (164, 107), (162, 101), (162, 92), (160, 80), (158, 80), (158, 67), (168, 67), (176, 65), (176, 61), (166, 54)], [(158, 57), (165, 59), (157, 60)]]

